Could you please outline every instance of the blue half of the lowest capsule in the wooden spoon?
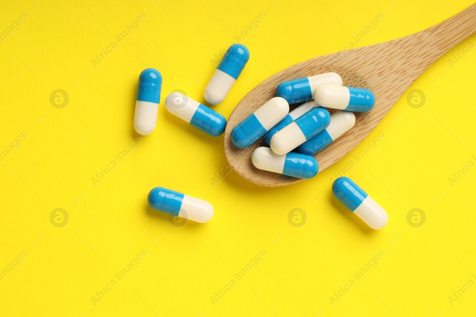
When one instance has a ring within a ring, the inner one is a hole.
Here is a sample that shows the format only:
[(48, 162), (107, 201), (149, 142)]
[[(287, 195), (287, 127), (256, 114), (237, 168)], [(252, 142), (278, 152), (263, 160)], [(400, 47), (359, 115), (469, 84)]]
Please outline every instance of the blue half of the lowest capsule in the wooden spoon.
[(309, 179), (316, 176), (318, 171), (319, 164), (314, 157), (294, 152), (286, 154), (283, 175)]

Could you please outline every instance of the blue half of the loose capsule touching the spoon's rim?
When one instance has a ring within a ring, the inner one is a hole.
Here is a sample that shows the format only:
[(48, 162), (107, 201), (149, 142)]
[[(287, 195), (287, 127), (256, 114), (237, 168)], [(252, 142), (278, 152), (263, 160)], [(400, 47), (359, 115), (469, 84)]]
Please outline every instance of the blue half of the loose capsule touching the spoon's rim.
[(190, 125), (212, 136), (218, 136), (225, 132), (227, 119), (215, 110), (200, 104), (190, 120)]

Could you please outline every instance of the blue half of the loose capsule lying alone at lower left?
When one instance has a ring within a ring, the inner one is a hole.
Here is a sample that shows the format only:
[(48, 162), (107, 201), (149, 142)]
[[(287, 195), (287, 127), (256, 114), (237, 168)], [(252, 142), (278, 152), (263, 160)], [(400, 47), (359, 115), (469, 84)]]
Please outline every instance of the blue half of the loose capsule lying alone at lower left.
[(164, 187), (155, 187), (147, 196), (150, 207), (155, 210), (178, 216), (182, 207), (184, 194)]

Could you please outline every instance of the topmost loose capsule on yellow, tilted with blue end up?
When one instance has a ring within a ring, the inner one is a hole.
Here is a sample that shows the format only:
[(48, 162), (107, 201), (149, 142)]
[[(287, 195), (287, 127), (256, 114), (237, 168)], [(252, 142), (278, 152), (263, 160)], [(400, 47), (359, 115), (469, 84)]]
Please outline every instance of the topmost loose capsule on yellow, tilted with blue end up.
[(233, 44), (221, 59), (213, 73), (203, 96), (212, 105), (217, 105), (228, 95), (233, 84), (249, 60), (249, 51), (243, 44)]

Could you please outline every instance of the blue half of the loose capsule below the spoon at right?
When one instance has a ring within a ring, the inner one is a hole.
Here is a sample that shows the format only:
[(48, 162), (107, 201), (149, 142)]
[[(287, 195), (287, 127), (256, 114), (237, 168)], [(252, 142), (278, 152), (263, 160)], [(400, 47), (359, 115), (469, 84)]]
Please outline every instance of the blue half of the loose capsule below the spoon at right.
[(354, 212), (367, 198), (364, 192), (353, 180), (348, 177), (339, 177), (332, 184), (332, 192), (350, 211)]

